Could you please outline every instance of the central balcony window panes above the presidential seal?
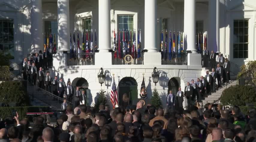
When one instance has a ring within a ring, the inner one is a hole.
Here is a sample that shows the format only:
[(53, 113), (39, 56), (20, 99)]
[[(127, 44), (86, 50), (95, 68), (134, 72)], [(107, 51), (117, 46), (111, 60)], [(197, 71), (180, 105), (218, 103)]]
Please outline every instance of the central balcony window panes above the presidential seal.
[[(133, 15), (118, 15), (118, 31), (121, 30), (121, 36), (123, 40), (123, 29), (124, 29), (124, 35), (126, 36), (127, 30), (132, 30), (133, 35)], [(118, 33), (118, 31), (116, 33)], [(126, 41), (126, 38), (125, 38)]]

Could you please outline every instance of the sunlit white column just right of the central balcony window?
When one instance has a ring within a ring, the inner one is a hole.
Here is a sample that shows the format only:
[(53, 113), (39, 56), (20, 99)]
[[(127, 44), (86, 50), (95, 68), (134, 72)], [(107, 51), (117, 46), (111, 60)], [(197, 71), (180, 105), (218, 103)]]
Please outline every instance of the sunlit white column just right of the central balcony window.
[(156, 0), (145, 0), (145, 41), (147, 46), (144, 49), (148, 52), (159, 52), (156, 46)]

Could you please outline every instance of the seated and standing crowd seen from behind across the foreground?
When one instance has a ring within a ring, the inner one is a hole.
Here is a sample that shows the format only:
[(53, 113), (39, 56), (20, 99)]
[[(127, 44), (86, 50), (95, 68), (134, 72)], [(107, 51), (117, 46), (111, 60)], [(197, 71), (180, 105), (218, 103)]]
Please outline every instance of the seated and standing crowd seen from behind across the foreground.
[[(189, 110), (156, 108), (138, 102), (129, 109), (100, 104), (65, 109), (50, 123), (48, 115), (19, 120), (18, 114), (0, 122), (0, 142), (253, 142), (256, 141), (256, 109), (248, 115), (234, 106), (217, 112), (199, 103)], [(99, 111), (98, 111), (99, 110)]]

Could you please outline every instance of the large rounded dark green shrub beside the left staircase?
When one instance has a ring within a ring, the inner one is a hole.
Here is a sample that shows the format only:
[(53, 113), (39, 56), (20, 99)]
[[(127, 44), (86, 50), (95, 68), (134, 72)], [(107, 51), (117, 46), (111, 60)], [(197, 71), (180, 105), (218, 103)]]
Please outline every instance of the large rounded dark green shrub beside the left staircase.
[[(17, 107), (29, 106), (30, 99), (27, 94), (26, 81), (4, 81), (0, 84), (0, 102), (10, 104), (15, 102)], [(7, 95), (7, 99), (5, 98)]]

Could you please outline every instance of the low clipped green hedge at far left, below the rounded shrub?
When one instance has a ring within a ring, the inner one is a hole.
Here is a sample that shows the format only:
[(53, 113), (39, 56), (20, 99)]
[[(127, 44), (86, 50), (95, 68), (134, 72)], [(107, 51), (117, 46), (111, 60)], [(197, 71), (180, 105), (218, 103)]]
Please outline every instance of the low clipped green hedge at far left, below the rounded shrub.
[(28, 118), (27, 112), (49, 112), (49, 107), (45, 106), (26, 106), (26, 107), (0, 107), (0, 118), (12, 117), (12, 112), (19, 114), (19, 119)]

